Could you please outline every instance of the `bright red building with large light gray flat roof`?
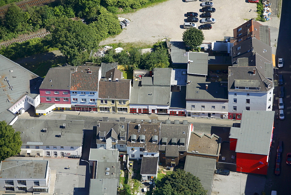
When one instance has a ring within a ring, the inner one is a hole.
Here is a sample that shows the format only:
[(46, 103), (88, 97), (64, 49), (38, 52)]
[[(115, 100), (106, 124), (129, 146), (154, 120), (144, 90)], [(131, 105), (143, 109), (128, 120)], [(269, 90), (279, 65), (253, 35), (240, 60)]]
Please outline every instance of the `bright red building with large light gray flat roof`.
[(236, 171), (267, 175), (275, 111), (243, 111), (240, 127), (230, 129)]

